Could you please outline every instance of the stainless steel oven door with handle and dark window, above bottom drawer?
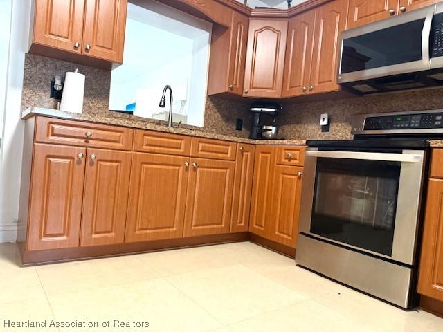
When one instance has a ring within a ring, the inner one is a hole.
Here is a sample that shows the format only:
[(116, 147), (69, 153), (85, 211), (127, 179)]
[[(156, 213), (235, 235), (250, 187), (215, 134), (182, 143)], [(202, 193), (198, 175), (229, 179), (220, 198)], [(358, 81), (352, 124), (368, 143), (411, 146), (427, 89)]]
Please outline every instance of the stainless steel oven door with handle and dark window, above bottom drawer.
[(305, 155), (300, 232), (412, 265), (424, 151)]

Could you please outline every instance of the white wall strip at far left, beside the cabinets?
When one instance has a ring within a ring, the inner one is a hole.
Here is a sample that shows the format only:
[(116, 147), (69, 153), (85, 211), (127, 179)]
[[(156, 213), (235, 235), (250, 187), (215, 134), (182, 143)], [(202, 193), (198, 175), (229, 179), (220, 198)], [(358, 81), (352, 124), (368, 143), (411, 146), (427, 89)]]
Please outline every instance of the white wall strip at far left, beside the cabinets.
[(17, 239), (21, 151), (24, 135), (24, 122), (21, 120), (21, 90), (24, 55), (28, 48), (30, 8), (30, 0), (12, 0), (6, 112), (0, 155), (0, 242), (13, 242)]

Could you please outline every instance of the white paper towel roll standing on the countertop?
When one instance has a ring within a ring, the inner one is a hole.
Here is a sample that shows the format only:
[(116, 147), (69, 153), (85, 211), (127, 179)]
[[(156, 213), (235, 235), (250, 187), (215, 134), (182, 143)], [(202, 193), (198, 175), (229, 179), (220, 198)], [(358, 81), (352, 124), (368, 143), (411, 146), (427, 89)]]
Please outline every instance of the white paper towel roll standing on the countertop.
[(64, 78), (62, 102), (60, 102), (60, 111), (72, 113), (83, 112), (84, 95), (84, 75), (75, 70), (75, 73), (69, 71)]

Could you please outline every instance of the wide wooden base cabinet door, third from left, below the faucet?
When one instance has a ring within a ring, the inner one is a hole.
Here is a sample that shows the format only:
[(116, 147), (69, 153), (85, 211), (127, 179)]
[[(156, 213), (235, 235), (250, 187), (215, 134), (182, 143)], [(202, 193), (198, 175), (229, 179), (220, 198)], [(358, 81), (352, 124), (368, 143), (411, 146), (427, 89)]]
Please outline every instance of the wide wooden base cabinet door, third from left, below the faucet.
[(132, 154), (125, 242), (183, 235), (189, 158)]

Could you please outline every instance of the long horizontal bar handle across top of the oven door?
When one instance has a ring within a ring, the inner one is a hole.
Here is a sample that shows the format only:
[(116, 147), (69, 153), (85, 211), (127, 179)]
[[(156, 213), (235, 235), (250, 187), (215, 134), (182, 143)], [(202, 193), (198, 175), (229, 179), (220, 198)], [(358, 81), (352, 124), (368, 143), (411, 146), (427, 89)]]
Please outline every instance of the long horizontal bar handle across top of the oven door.
[(384, 154), (377, 152), (350, 151), (306, 151), (306, 156), (320, 158), (397, 161), (399, 163), (419, 163), (422, 160), (422, 156), (419, 154)]

